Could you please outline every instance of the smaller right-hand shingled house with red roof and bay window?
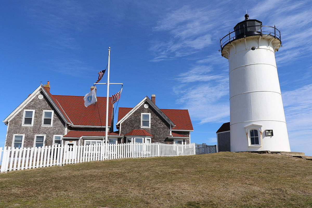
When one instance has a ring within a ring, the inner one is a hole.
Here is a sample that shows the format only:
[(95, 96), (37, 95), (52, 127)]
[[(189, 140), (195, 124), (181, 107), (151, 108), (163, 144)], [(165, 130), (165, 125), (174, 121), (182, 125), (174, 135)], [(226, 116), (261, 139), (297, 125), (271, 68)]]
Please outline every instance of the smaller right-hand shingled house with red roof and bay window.
[(134, 108), (119, 108), (116, 127), (124, 135), (122, 143), (161, 142), (189, 144), (193, 125), (188, 110), (159, 109), (147, 96)]

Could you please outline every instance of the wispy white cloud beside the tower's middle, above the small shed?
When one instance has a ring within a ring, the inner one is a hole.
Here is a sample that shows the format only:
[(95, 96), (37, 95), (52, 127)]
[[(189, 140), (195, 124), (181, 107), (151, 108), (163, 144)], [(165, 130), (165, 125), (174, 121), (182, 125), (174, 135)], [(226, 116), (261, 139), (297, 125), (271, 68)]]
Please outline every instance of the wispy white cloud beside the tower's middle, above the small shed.
[(189, 110), (193, 120), (203, 124), (228, 119), (229, 103), (224, 101), (229, 94), (227, 73), (215, 75), (210, 67), (196, 66), (176, 80), (185, 83), (174, 88), (180, 97), (177, 103)]

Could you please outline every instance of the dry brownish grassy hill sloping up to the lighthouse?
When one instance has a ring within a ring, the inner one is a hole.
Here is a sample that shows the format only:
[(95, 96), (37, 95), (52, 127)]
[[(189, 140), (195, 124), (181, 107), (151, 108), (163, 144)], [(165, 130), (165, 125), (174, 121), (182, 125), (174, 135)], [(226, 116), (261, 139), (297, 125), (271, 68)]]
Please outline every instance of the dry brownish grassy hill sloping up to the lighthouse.
[(0, 207), (312, 207), (312, 161), (220, 152), (14, 171)]

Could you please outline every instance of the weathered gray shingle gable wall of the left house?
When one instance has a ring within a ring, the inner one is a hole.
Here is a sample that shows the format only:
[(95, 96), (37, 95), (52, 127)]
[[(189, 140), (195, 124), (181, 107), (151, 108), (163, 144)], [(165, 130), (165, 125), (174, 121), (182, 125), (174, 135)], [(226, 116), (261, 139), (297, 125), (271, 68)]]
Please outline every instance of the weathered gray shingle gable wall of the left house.
[[(8, 124), (7, 139), (5, 146), (12, 146), (14, 134), (25, 134), (23, 147), (34, 147), (35, 135), (46, 135), (45, 145), (52, 145), (53, 135), (64, 135), (65, 122), (57, 114), (46, 96), (43, 99), (38, 99), (39, 93), (23, 108), (18, 114), (12, 118)], [(35, 110), (33, 126), (22, 126), (24, 109)], [(43, 110), (53, 110), (53, 125), (52, 127), (42, 127)]]

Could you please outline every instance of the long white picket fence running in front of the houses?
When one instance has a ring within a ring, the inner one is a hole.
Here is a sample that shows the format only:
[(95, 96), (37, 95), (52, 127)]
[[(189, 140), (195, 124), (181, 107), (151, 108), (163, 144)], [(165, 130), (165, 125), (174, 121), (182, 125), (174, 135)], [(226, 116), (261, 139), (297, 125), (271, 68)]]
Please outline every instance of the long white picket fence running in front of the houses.
[(195, 155), (204, 154), (203, 152), (214, 153), (215, 151), (203, 151), (203, 145), (199, 148), (195, 143), (185, 145), (124, 143), (107, 146), (103, 143), (85, 146), (52, 145), (37, 148), (5, 147), (0, 148), (0, 158), (2, 158), (0, 172), (107, 159)]

